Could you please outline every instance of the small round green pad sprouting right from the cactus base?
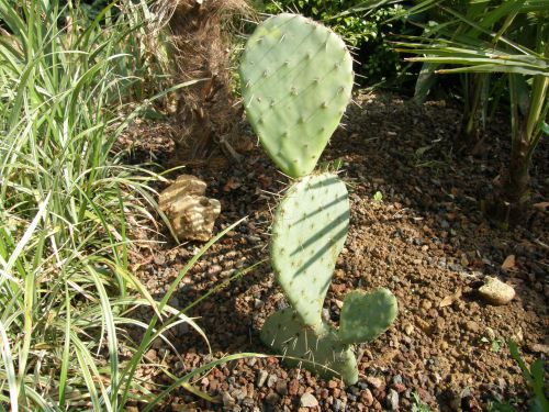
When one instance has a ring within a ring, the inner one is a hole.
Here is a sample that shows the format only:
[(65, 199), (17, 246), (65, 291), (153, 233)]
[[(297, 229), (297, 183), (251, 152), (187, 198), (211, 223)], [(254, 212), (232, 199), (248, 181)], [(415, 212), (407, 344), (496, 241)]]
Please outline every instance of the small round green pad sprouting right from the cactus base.
[(388, 289), (349, 292), (341, 309), (339, 337), (346, 344), (371, 341), (391, 326), (396, 312), (396, 298)]

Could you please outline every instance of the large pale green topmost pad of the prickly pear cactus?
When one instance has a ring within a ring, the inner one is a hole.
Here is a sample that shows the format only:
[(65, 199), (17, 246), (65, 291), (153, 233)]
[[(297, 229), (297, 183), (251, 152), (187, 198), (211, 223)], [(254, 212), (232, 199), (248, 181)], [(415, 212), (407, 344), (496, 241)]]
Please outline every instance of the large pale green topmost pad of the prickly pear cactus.
[(352, 58), (329, 29), (282, 13), (246, 44), (240, 81), (248, 121), (290, 177), (310, 174), (350, 101)]

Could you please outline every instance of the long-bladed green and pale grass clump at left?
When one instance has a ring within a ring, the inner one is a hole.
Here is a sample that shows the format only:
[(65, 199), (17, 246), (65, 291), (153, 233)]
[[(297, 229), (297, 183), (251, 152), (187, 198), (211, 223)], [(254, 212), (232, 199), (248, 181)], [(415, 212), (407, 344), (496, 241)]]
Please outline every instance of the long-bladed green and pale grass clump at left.
[[(111, 148), (138, 112), (128, 103), (186, 85), (154, 94), (167, 81), (147, 47), (158, 15), (117, 7), (91, 20), (71, 1), (0, 0), (0, 410), (158, 401), (136, 378), (143, 354), (178, 323), (202, 334), (167, 304), (186, 271), (156, 302), (128, 270), (127, 222), (152, 219), (158, 176)], [(138, 347), (126, 325), (146, 330)]]

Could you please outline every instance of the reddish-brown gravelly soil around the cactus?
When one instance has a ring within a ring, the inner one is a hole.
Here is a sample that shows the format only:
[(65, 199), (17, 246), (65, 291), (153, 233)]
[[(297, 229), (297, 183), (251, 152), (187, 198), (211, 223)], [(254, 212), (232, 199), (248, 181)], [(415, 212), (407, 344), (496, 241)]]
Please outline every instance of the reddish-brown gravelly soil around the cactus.
[[(337, 379), (287, 368), (279, 357), (249, 357), (194, 380), (213, 402), (181, 389), (165, 410), (407, 411), (425, 403), (434, 411), (478, 411), (497, 400), (527, 408), (529, 389), (506, 341), (517, 342), (527, 363), (548, 355), (547, 143), (538, 147), (533, 169), (537, 204), (524, 225), (505, 229), (482, 213), (482, 200), (497, 190), (509, 152), (505, 118), (490, 126), (473, 158), (452, 149), (460, 112), (445, 102), (417, 105), (389, 93), (356, 100), (360, 107), (349, 108), (347, 125), (323, 155), (324, 162), (343, 162), (340, 176), (351, 203), (350, 230), (325, 315), (337, 323), (345, 294), (357, 288), (386, 287), (400, 308), (386, 333), (355, 348), (359, 382), (345, 388)], [(288, 178), (256, 146), (249, 130), (243, 142), (249, 144), (239, 147), (243, 153), (247, 146), (239, 164), (211, 162), (182, 170), (204, 179), (208, 196), (221, 201), (216, 232), (248, 218), (211, 247), (170, 302), (184, 308), (223, 286), (188, 313), (199, 316), (211, 354), (187, 325), (169, 336), (173, 348), (158, 342), (147, 354), (177, 376), (228, 354), (269, 354), (259, 331), (267, 316), (287, 305), (268, 263), (268, 242), (271, 210)], [(169, 147), (165, 142), (153, 151)], [(168, 241), (144, 253), (142, 280), (161, 297), (200, 246)], [(264, 259), (225, 285), (237, 270)], [(477, 290), (486, 276), (513, 286), (515, 299), (503, 307), (483, 301)]]

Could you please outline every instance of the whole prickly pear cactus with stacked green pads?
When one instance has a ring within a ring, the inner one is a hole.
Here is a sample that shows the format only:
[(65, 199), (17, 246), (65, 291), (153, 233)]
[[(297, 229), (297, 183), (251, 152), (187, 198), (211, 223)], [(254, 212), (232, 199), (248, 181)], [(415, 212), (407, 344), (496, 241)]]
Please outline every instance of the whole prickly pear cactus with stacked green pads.
[(358, 380), (352, 345), (379, 336), (397, 312), (389, 290), (357, 290), (345, 298), (338, 330), (322, 319), (347, 237), (349, 199), (336, 174), (313, 170), (350, 101), (352, 78), (341, 38), (287, 13), (256, 29), (240, 64), (248, 121), (269, 157), (296, 179), (274, 212), (270, 244), (290, 308), (267, 319), (261, 339), (289, 365), (340, 375), (347, 385)]

